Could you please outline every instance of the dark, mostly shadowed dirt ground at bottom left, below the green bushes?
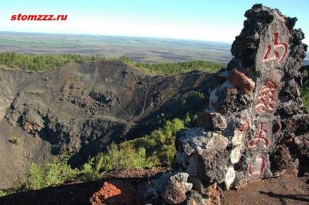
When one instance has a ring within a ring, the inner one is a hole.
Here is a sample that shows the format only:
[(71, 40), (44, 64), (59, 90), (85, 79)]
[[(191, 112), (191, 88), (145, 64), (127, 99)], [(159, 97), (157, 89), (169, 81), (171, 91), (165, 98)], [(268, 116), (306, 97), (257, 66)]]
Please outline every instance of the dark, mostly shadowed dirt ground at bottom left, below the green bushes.
[[(18, 192), (0, 197), (0, 205), (79, 205), (90, 204), (90, 198), (99, 191), (104, 182), (121, 181), (130, 186), (145, 182), (169, 169), (157, 167), (152, 170), (130, 169), (118, 172), (107, 172), (104, 178), (97, 182), (69, 182), (59, 186), (47, 187), (37, 191)], [(135, 205), (135, 204), (134, 204)]]

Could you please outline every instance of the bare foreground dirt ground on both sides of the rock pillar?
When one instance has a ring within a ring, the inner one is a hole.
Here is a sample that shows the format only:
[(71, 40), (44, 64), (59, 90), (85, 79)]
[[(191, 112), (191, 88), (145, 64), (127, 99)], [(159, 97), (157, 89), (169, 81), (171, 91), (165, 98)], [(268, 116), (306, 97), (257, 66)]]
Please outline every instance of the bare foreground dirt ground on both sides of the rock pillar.
[[(167, 169), (155, 170), (135, 169), (110, 172), (98, 182), (70, 182), (60, 186), (48, 187), (38, 191), (20, 192), (0, 197), (0, 204), (90, 204), (95, 191), (100, 190), (104, 182), (120, 180), (125, 184), (137, 187)], [(298, 178), (293, 174), (285, 174), (278, 178), (263, 179), (252, 182), (239, 190), (224, 193), (223, 205), (234, 204), (309, 204), (309, 179)]]

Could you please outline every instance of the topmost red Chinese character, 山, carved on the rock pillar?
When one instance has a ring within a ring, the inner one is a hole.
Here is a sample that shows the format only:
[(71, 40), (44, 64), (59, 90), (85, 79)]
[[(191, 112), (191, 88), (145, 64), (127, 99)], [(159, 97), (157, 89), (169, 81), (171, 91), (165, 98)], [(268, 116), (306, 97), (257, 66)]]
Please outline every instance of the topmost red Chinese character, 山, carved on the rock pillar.
[[(283, 58), (286, 56), (286, 52), (288, 51), (288, 45), (286, 43), (278, 43), (278, 33), (273, 33), (273, 52), (271, 53), (271, 46), (267, 46), (266, 52), (263, 57), (263, 62), (268, 62), (271, 60), (278, 60), (278, 63), (281, 63), (283, 61)], [(283, 52), (281, 52), (281, 56), (279, 56), (279, 51), (283, 48)], [(270, 56), (270, 54), (273, 54), (273, 56)]]

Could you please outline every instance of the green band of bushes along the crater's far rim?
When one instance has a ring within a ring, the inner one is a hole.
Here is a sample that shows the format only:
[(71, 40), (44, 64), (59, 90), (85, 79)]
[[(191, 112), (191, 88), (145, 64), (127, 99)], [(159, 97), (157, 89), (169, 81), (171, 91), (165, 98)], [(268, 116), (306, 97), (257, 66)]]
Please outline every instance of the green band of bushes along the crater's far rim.
[[(20, 68), (23, 70), (46, 71), (61, 68), (66, 63), (85, 63), (88, 61), (103, 61), (107, 58), (103, 56), (82, 56), (78, 54), (19, 54), (15, 52), (0, 53), (0, 68)], [(135, 68), (142, 68), (148, 73), (158, 73), (166, 75), (175, 75), (178, 73), (187, 73), (192, 70), (202, 70), (208, 73), (214, 73), (223, 65), (208, 61), (187, 61), (181, 63), (139, 63), (131, 61), (129, 58), (122, 57), (114, 59), (131, 65)]]

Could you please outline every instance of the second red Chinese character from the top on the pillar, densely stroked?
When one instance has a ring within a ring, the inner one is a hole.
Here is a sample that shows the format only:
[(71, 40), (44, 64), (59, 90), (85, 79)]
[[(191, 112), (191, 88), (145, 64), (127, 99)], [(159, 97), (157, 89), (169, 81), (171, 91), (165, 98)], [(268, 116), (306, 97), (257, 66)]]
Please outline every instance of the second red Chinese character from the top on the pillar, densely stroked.
[(258, 92), (258, 105), (256, 105), (256, 113), (271, 112), (276, 109), (276, 102), (274, 99), (276, 93), (276, 85), (268, 81), (263, 85), (260, 92)]

